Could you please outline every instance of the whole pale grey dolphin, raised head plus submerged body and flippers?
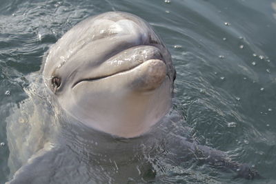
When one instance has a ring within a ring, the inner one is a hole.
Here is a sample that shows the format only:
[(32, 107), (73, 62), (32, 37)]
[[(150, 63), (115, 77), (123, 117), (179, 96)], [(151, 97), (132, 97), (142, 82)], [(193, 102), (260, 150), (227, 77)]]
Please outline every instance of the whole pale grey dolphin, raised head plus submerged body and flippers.
[(164, 160), (172, 168), (201, 160), (244, 178), (258, 175), (180, 136), (185, 129), (170, 110), (170, 53), (139, 17), (106, 12), (81, 21), (44, 63), (29, 99), (8, 119), (7, 183), (158, 182), (166, 177)]

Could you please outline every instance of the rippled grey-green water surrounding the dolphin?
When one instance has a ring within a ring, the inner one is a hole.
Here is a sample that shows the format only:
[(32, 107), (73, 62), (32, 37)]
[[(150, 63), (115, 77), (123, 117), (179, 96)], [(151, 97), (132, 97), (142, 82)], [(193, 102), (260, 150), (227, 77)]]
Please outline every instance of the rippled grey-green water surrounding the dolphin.
[[(24, 76), (39, 70), (43, 53), (73, 25), (112, 10), (146, 19), (166, 43), (177, 70), (172, 108), (184, 116), (181, 125), (190, 128), (190, 136), (255, 165), (266, 182), (275, 183), (273, 0), (1, 0), (0, 183), (9, 174), (6, 120), (12, 106), (26, 99), (23, 87), (32, 83)], [(164, 163), (164, 181), (251, 183), (208, 165), (180, 166)]]

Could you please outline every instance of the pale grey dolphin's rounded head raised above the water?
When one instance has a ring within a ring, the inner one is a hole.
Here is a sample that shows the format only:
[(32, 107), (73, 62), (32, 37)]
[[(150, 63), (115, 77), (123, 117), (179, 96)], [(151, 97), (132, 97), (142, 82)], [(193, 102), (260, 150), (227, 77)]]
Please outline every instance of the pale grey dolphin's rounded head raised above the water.
[(121, 137), (144, 134), (170, 109), (175, 69), (146, 21), (106, 12), (81, 21), (48, 52), (43, 80), (68, 114)]

